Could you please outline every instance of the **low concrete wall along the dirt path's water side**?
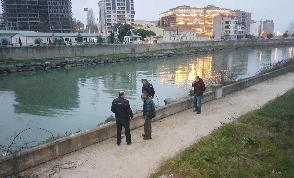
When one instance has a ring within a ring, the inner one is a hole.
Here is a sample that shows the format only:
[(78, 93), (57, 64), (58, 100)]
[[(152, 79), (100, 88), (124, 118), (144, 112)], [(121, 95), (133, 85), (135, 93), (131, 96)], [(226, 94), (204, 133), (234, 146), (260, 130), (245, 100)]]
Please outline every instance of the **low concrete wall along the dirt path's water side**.
[[(223, 87), (223, 95), (233, 93), (256, 83), (268, 80), (278, 75), (294, 70), (294, 65), (281, 68), (260, 76), (252, 77), (231, 85)], [(203, 94), (202, 103), (214, 99), (214, 91)], [(193, 107), (193, 97), (187, 98), (176, 103), (171, 103), (160, 108), (156, 108), (156, 117), (152, 121), (156, 121), (173, 115), (177, 112)], [(135, 129), (144, 125), (142, 114), (134, 116), (134, 120), (130, 122), (130, 128)], [(101, 127), (80, 132), (68, 137), (63, 137), (53, 142), (33, 147), (19, 153), (8, 155), (0, 158), (0, 177), (13, 174), (29, 167), (41, 164), (43, 162), (55, 159), (67, 153), (79, 150), (83, 147), (93, 145), (102, 140), (106, 140), (116, 135), (116, 123), (108, 123)]]

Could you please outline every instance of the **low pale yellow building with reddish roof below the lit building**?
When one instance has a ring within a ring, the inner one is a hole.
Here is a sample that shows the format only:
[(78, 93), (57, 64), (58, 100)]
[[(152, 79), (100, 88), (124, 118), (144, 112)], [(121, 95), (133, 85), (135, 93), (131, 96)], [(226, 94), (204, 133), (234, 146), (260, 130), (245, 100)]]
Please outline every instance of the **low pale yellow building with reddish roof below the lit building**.
[(154, 31), (156, 34), (153, 39), (166, 42), (176, 41), (206, 41), (210, 40), (210, 36), (197, 33), (195, 29), (187, 27), (162, 27), (151, 26), (147, 30)]

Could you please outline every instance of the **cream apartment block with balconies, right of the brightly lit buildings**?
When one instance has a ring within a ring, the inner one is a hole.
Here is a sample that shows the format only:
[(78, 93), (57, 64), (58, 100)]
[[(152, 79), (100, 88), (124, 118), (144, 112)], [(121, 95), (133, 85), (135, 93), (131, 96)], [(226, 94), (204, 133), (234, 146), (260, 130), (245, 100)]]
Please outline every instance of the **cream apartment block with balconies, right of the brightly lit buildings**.
[(213, 18), (213, 38), (214, 39), (236, 40), (237, 31), (238, 31), (238, 24), (236, 22), (236, 16), (218, 15)]

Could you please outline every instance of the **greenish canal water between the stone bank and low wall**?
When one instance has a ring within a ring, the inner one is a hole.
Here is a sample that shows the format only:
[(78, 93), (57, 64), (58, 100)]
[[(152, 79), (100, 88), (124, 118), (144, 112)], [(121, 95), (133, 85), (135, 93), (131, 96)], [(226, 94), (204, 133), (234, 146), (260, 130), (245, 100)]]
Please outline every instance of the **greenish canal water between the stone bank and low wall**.
[[(121, 90), (133, 112), (141, 110), (143, 78), (155, 88), (154, 103), (162, 106), (165, 98), (185, 97), (195, 76), (212, 73), (212, 66), (220, 59), (225, 59), (226, 66), (238, 66), (239, 78), (247, 78), (270, 63), (293, 56), (294, 46), (246, 48), (0, 75), (0, 145), (7, 145), (14, 132), (29, 127), (40, 127), (53, 135), (92, 129), (114, 115), (111, 102)], [(20, 136), (29, 142), (51, 135), (33, 129)]]

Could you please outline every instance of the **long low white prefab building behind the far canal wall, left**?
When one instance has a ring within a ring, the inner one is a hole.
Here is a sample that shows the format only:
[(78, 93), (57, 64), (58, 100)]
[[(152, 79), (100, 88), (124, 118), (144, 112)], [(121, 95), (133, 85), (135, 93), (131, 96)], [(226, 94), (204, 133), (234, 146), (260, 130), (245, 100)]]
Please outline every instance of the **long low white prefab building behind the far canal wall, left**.
[[(83, 43), (86, 43), (86, 39), (89, 43), (97, 42), (96, 36), (101, 35), (103, 41), (107, 41), (105, 34), (97, 33), (80, 33), (83, 38)], [(76, 36), (78, 33), (54, 33), (55, 39), (63, 39), (66, 44), (69, 44), (71, 39), (72, 44), (76, 44)], [(49, 41), (53, 42), (53, 33), (32, 33), (32, 32), (21, 32), (18, 31), (13, 36), (11, 36), (12, 43), (15, 46), (19, 46), (19, 38), (21, 39), (22, 46), (34, 45), (36, 38), (40, 39), (41, 44), (49, 44)], [(50, 40), (49, 40), (50, 39)]]

